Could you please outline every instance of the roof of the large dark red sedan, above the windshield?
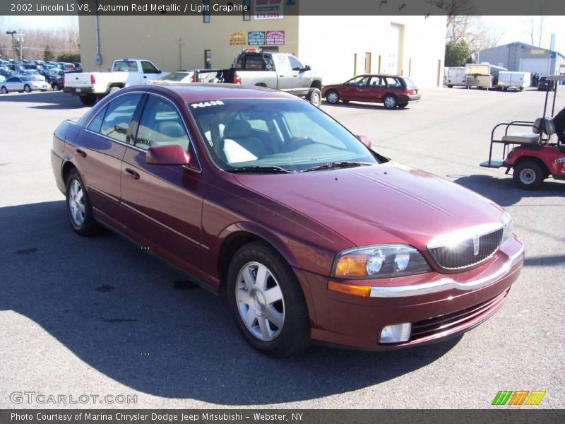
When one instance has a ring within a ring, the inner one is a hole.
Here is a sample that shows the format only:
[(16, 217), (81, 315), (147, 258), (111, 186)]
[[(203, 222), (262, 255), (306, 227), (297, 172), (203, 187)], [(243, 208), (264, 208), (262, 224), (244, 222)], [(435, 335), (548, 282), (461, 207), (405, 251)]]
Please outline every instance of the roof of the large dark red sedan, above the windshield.
[[(179, 95), (185, 102), (206, 102), (210, 100), (239, 98), (280, 98), (298, 99), (295, 95), (265, 87), (246, 87), (222, 83), (191, 83), (152, 86), (156, 90), (169, 90)], [(150, 89), (148, 87), (148, 89)]]

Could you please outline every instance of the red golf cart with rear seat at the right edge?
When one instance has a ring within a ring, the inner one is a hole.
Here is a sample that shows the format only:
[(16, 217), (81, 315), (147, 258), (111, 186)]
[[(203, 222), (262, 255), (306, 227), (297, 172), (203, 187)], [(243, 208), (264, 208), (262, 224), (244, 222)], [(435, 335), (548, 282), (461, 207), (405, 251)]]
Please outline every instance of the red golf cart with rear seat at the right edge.
[[(554, 116), (557, 87), (560, 81), (565, 81), (565, 75), (548, 76), (547, 80), (555, 81), (550, 115), (552, 118), (546, 117), (550, 100), (547, 91), (541, 118), (534, 122), (513, 121), (494, 126), (490, 138), (489, 160), (480, 164), (489, 168), (506, 167), (506, 174), (512, 169), (514, 184), (520, 189), (535, 190), (550, 175), (554, 179), (565, 179), (565, 108)], [(520, 127), (529, 128), (532, 132), (510, 132)], [(495, 144), (502, 145), (503, 160), (492, 160), (492, 148)]]

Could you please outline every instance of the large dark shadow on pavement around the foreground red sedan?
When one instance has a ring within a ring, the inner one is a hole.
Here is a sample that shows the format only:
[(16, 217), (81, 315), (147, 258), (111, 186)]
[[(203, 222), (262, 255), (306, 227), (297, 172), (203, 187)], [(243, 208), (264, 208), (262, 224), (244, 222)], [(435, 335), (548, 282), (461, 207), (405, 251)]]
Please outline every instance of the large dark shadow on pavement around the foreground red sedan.
[(0, 310), (142, 393), (236, 406), (316, 399), (425, 367), (460, 341), (391, 352), (313, 346), (270, 359), (239, 336), (225, 298), (112, 232), (76, 235), (64, 201), (0, 208), (0, 222)]

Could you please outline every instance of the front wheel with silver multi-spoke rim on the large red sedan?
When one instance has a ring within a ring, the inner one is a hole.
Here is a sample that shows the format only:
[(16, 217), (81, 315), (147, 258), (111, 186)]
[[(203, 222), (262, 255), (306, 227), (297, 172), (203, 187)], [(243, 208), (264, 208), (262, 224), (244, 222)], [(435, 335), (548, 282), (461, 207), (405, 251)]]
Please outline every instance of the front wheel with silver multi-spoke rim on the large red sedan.
[(266, 242), (251, 242), (234, 255), (227, 300), (242, 336), (261, 353), (280, 358), (309, 345), (302, 288), (285, 259)]

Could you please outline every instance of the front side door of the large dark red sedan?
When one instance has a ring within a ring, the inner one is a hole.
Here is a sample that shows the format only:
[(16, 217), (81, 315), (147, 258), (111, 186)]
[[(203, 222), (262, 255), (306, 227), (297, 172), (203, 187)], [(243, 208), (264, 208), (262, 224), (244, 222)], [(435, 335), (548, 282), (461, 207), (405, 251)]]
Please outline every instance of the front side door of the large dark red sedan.
[(145, 162), (148, 148), (171, 144), (196, 158), (182, 114), (170, 100), (148, 95), (137, 126), (121, 170), (126, 234), (197, 275), (201, 268), (201, 170)]

